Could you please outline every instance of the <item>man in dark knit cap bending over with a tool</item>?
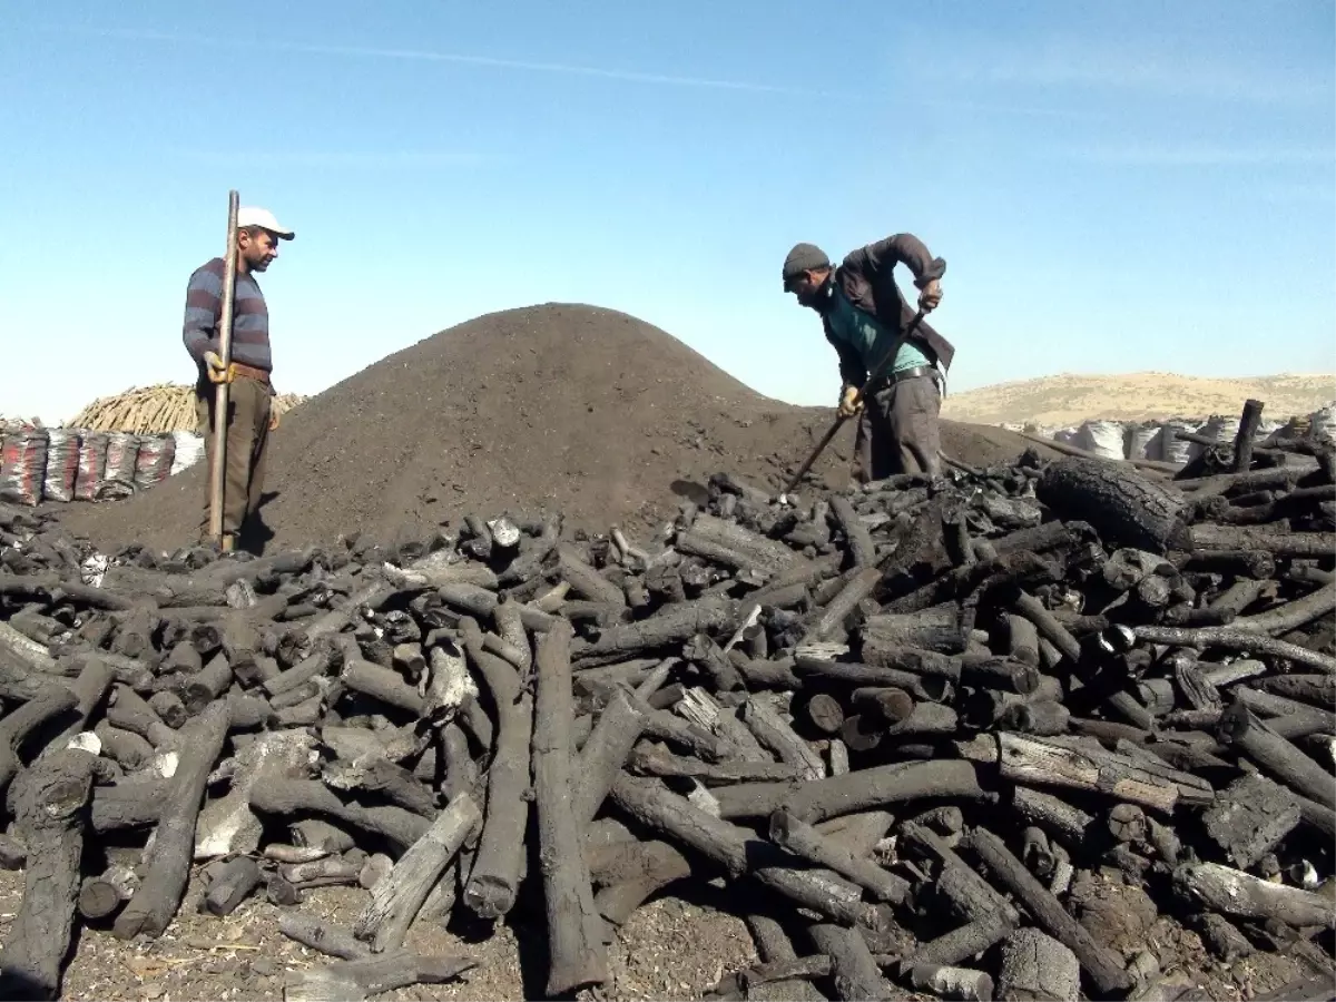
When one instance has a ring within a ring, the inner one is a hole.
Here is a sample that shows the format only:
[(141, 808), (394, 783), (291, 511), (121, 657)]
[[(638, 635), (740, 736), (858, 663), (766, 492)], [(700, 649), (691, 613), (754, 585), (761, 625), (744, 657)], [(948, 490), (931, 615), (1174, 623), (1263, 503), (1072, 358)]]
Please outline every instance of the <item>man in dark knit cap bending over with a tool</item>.
[[(860, 247), (838, 269), (811, 243), (796, 244), (784, 259), (784, 291), (820, 314), (826, 339), (839, 355), (839, 411), (860, 418), (863, 481), (941, 470), (942, 382), (955, 349), (922, 321), (910, 330), (914, 310), (895, 283), (896, 265), (912, 273), (919, 309), (937, 309), (946, 262), (911, 234)], [(895, 361), (875, 385), (863, 387), (855, 409), (859, 387), (892, 351)]]

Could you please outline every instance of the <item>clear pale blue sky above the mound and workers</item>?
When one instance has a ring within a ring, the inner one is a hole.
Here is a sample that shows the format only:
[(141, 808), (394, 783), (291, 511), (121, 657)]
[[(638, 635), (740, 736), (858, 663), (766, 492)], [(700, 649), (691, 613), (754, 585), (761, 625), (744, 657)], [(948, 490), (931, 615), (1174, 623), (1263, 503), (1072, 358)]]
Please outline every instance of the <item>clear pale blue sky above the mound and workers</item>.
[(298, 231), (281, 390), (562, 301), (831, 403), (780, 262), (898, 231), (947, 261), (953, 390), (1336, 370), (1333, 3), (0, 9), (0, 413), (190, 379), (231, 187)]

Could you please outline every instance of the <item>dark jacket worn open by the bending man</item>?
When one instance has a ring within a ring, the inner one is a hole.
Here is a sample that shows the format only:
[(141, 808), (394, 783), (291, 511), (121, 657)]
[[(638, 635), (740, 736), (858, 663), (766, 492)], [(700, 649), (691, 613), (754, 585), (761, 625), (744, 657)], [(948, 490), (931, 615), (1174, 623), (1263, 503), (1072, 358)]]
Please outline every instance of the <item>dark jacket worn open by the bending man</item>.
[[(895, 285), (896, 265), (908, 266), (910, 271), (914, 273), (914, 285), (918, 289), (946, 274), (946, 262), (929, 254), (927, 247), (918, 236), (899, 232), (851, 251), (835, 269), (831, 281), (839, 283), (855, 307), (872, 314), (892, 330), (903, 331), (918, 310), (904, 302), (904, 295)], [(826, 339), (839, 353), (839, 371), (844, 385), (862, 386), (868, 377), (863, 359), (844, 342), (835, 338), (824, 314), (822, 325), (826, 329)], [(927, 322), (919, 322), (918, 329), (910, 335), (910, 341), (929, 358), (935, 357), (943, 370), (951, 367), (955, 349)]]

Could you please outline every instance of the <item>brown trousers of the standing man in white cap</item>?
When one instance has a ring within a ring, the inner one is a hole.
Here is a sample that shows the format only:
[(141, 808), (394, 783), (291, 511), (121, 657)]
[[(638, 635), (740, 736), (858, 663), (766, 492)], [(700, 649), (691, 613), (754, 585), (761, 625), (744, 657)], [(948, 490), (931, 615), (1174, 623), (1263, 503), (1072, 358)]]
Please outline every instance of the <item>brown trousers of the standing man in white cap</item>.
[[(211, 382), (195, 385), (195, 421), (204, 437), (204, 462), (214, 469), (214, 402)], [(227, 450), (223, 465), (223, 534), (236, 536), (246, 520), (259, 508), (265, 486), (265, 460), (269, 453), (270, 387), (239, 375), (228, 390)], [(199, 522), (200, 538), (208, 536), (211, 476), (204, 478), (204, 514)]]

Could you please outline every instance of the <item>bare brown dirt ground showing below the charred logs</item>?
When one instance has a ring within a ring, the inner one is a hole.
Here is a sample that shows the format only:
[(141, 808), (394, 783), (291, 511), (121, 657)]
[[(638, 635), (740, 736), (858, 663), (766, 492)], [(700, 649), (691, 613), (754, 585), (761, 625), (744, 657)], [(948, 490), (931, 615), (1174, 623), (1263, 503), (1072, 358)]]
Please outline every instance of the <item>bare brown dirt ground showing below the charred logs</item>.
[[(23, 894), (23, 875), (0, 872), (0, 941)], [(251, 898), (224, 919), (200, 912), (200, 882), (192, 880), (176, 918), (156, 941), (122, 942), (102, 929), (76, 931), (60, 998), (98, 1002), (269, 1002), (283, 997), (290, 973), (329, 963), (278, 931), (279, 910)], [(711, 886), (701, 900), (663, 896), (632, 915), (609, 947), (611, 982), (580, 1002), (687, 1002), (699, 999), (724, 974), (758, 963), (743, 921), (727, 911), (729, 891)], [(330, 887), (307, 894), (305, 911), (349, 927), (366, 902), (361, 888)], [(1097, 937), (1104, 939), (1102, 937)], [(1113, 943), (1105, 943), (1114, 946)], [(415, 986), (378, 995), (383, 1002), (520, 1002), (542, 998), (545, 933), (541, 914), (517, 910), (508, 922), (446, 931), (417, 923), (409, 946), (424, 954), (468, 954), (477, 967), (448, 985)], [(799, 945), (800, 946), (800, 945)], [(1257, 953), (1221, 963), (1201, 939), (1177, 922), (1158, 918), (1121, 957), (1150, 950), (1172, 983), (1206, 991), (1212, 1002), (1237, 1002), (1272, 991), (1307, 974), (1293, 958)], [(811, 1002), (820, 995), (790, 982), (755, 994), (762, 1002)], [(903, 994), (923, 999), (930, 995)]]

